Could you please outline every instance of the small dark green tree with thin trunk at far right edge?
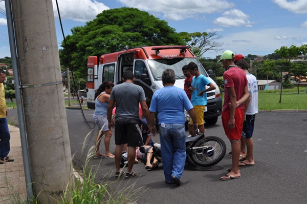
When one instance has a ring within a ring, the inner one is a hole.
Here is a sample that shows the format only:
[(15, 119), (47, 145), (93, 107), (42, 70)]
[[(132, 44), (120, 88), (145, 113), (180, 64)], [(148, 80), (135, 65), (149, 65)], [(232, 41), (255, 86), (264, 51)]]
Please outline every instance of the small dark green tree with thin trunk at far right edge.
[(307, 63), (291, 63), (289, 72), (293, 76), (292, 80), (295, 81), (299, 94), (299, 84), (307, 78)]

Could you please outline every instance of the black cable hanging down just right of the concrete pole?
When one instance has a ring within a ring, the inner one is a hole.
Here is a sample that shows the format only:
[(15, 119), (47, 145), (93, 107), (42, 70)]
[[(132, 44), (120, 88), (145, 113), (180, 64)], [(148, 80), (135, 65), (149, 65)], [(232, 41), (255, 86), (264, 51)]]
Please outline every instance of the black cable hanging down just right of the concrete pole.
[[(66, 43), (66, 39), (65, 39), (65, 35), (64, 35), (64, 30), (63, 30), (63, 26), (62, 26), (62, 20), (61, 20), (61, 15), (60, 15), (58, 1), (56, 0), (55, 2), (56, 2), (57, 12), (58, 12), (58, 16), (59, 16), (59, 22), (60, 22), (60, 26), (61, 26), (61, 31), (62, 31), (62, 35), (63, 35), (64, 45), (66, 47), (65, 50), (67, 52), (67, 59), (68, 59), (68, 63), (69, 63), (69, 68), (70, 68), (70, 70), (72, 72), (72, 78), (73, 78), (74, 84), (76, 84), (75, 83), (75, 77), (74, 77), (73, 69), (72, 69), (72, 65), (71, 65), (70, 53), (69, 53), (69, 50), (68, 50), (68, 46), (67, 46), (67, 43)], [(70, 74), (70, 73), (67, 73), (67, 74)], [(74, 90), (75, 93), (77, 93), (77, 91), (74, 88), (73, 88), (73, 90)], [(82, 109), (81, 101), (80, 101), (80, 98), (79, 98), (78, 94), (77, 94), (77, 100), (78, 100), (78, 104), (80, 106), (80, 110), (81, 110), (81, 113), (82, 113), (83, 120), (84, 120), (87, 128), (89, 128), (91, 131), (93, 131), (95, 126), (92, 128), (90, 126), (89, 122), (86, 120), (84, 112), (83, 112), (83, 109)]]

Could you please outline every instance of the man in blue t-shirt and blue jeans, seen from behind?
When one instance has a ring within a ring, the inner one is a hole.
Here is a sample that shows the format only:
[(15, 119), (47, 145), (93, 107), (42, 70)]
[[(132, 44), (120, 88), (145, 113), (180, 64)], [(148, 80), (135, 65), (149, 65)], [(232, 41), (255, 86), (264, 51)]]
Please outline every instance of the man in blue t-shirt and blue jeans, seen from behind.
[(153, 119), (158, 112), (161, 155), (165, 182), (180, 185), (186, 159), (186, 133), (184, 109), (194, 121), (193, 130), (198, 129), (197, 118), (193, 106), (183, 89), (174, 87), (175, 73), (166, 69), (162, 74), (163, 88), (153, 93), (149, 108), (151, 134), (156, 128)]

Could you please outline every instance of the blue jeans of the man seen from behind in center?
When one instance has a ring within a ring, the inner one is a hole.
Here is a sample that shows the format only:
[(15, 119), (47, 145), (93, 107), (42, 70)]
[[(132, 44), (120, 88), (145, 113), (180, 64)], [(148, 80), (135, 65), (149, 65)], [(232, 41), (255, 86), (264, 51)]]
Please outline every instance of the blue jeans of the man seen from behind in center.
[(165, 181), (172, 182), (171, 176), (181, 178), (186, 160), (186, 132), (184, 124), (159, 125), (161, 155)]

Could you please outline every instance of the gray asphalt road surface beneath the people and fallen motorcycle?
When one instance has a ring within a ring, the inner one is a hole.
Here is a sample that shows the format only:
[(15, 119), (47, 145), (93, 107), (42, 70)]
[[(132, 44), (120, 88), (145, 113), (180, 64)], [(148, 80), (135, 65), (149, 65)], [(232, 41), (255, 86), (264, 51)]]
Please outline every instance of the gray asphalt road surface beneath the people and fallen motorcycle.
[[(16, 115), (10, 110), (9, 115)], [(93, 111), (84, 111), (90, 127), (94, 127)], [(17, 118), (17, 116), (15, 116)], [(95, 130), (89, 133), (80, 110), (67, 110), (70, 143), (75, 168), (84, 164), (85, 156), (96, 137)], [(18, 125), (18, 124), (16, 124)], [(221, 118), (216, 125), (205, 125), (205, 135), (224, 139), (227, 152), (230, 142), (225, 136)], [(221, 181), (231, 166), (231, 158), (226, 154), (217, 165), (209, 168), (192, 168), (186, 164), (181, 186), (164, 182), (162, 165), (147, 171), (140, 162), (134, 166), (139, 175), (116, 182), (119, 191), (124, 186), (135, 184), (134, 189), (145, 187), (137, 203), (307, 203), (307, 113), (306, 112), (260, 112), (256, 115), (254, 140), (255, 166), (242, 167), (242, 178)], [(111, 150), (114, 152), (114, 137)], [(159, 137), (153, 138), (159, 143)], [(82, 145), (85, 144), (83, 153)], [(104, 146), (101, 142), (100, 150)], [(115, 181), (114, 159), (92, 159), (90, 164), (98, 168), (98, 181)]]

